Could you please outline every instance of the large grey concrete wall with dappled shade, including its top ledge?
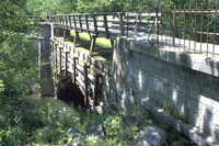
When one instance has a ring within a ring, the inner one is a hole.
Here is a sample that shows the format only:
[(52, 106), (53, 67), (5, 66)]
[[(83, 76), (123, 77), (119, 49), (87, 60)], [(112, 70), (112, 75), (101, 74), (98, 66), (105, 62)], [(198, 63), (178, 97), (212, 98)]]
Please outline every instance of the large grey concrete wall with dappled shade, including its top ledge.
[[(106, 83), (107, 85), (107, 83)], [(131, 112), (149, 102), (171, 106), (183, 119), (219, 139), (219, 60), (117, 38), (108, 103)], [(165, 101), (165, 104), (164, 104)]]

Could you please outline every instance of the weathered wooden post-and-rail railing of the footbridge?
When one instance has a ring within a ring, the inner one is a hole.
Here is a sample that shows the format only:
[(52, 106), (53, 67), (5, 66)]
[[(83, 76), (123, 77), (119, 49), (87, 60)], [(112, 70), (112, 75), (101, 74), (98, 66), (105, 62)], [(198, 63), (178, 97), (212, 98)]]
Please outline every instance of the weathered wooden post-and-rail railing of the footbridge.
[[(161, 13), (83, 13), (55, 15), (55, 24), (64, 29), (114, 38), (131, 32), (157, 31)], [(147, 32), (148, 33), (148, 32)]]

